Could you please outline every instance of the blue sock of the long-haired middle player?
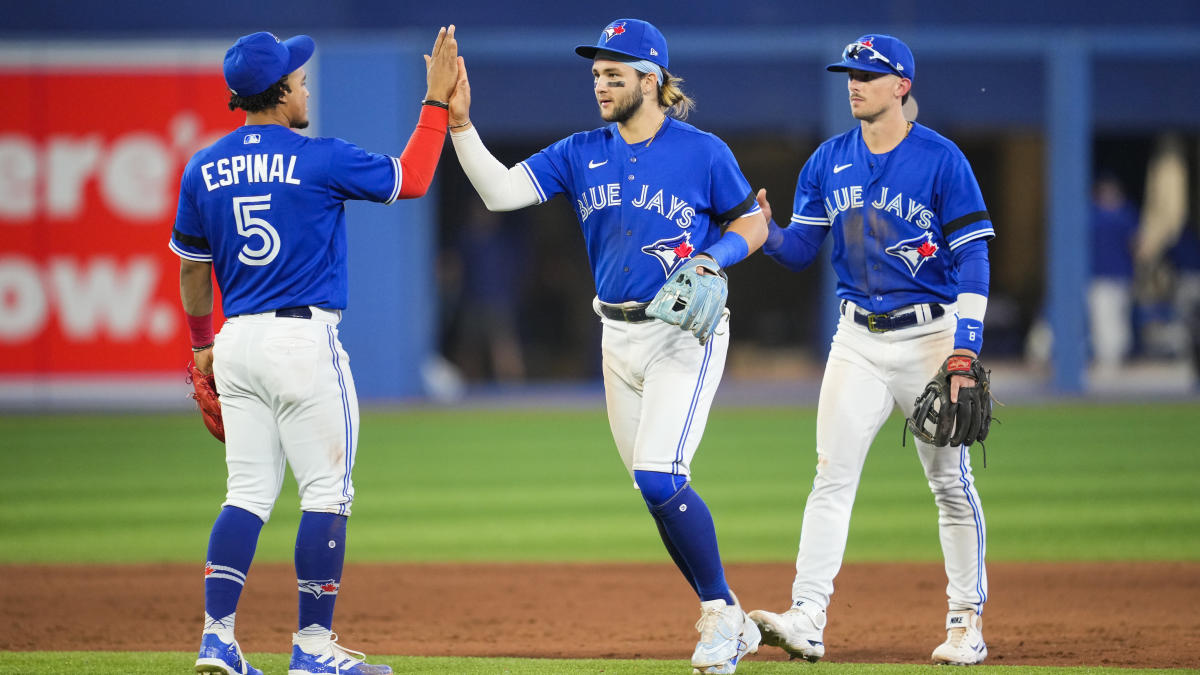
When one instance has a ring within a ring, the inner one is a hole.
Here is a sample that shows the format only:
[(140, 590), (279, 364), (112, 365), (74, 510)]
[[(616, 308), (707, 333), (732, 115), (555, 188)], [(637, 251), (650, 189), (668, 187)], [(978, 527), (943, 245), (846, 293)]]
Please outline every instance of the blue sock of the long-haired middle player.
[(659, 526), (662, 543), (701, 601), (733, 604), (716, 545), (713, 515), (683, 476), (635, 471), (634, 479)]

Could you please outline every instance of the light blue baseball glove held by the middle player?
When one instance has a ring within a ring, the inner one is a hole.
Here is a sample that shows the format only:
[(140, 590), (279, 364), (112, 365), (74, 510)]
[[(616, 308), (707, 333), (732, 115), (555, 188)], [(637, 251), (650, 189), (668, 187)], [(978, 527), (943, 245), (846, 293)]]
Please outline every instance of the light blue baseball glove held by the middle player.
[[(700, 267), (715, 269), (716, 274), (700, 274)], [(689, 330), (703, 345), (713, 336), (725, 311), (730, 297), (727, 279), (713, 261), (691, 258), (662, 285), (646, 307), (646, 316)]]

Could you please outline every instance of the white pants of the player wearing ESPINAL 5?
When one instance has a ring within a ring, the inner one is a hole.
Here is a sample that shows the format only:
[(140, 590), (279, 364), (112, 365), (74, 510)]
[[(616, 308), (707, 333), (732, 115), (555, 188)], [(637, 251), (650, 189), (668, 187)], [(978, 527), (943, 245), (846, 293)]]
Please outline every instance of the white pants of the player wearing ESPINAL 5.
[(341, 312), (226, 321), (212, 347), (229, 470), (222, 506), (270, 518), (290, 465), (300, 509), (350, 514), (359, 402), (337, 339)]

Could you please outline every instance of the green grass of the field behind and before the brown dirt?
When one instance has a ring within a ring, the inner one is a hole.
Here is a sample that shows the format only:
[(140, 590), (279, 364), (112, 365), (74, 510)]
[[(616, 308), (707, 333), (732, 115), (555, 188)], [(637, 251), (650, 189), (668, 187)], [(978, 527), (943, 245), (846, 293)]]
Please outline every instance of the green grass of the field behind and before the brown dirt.
[[(1000, 408), (973, 452), (989, 560), (1200, 560), (1200, 405)], [(726, 561), (791, 561), (812, 479), (812, 408), (718, 410), (692, 465)], [(868, 458), (847, 561), (941, 558), (936, 512), (892, 419)], [(202, 558), (224, 494), (198, 416), (0, 417), (0, 563)], [(604, 411), (368, 412), (350, 561), (661, 561)], [(257, 560), (288, 561), (284, 483)], [(276, 665), (271, 661), (278, 658)], [(186, 671), (193, 655), (0, 653), (6, 673)], [(283, 668), (282, 655), (259, 667)], [(262, 663), (259, 663), (262, 662)], [(677, 673), (676, 662), (390, 659), (397, 673)], [(822, 673), (918, 667), (821, 663)], [(1001, 667), (985, 667), (986, 671)], [(746, 662), (738, 673), (797, 673)], [(1007, 670), (1012, 670), (1008, 668)], [(1038, 669), (1057, 673), (1060, 669)], [(977, 670), (978, 671), (978, 670)], [(1070, 669), (1064, 673), (1103, 673)]]

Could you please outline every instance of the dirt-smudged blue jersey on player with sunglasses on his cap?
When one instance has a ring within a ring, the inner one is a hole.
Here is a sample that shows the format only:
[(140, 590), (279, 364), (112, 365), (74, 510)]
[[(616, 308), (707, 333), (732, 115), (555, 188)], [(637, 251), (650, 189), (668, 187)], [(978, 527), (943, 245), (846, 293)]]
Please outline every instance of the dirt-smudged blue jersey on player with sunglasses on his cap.
[(872, 312), (955, 301), (952, 252), (995, 237), (966, 157), (916, 123), (882, 155), (860, 127), (822, 143), (800, 171), (792, 222), (833, 231), (838, 297)]

